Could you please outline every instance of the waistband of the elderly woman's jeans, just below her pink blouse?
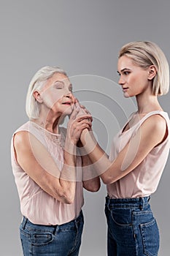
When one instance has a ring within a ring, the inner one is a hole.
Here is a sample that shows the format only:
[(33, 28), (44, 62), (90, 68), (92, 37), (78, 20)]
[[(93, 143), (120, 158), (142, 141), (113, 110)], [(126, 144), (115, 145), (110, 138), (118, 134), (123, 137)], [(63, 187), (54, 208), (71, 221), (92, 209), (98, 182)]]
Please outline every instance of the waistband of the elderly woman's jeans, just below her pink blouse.
[(61, 225), (38, 225), (38, 224), (32, 223), (28, 218), (26, 218), (24, 216), (23, 216), (21, 225), (22, 225), (23, 229), (25, 229), (26, 225), (28, 224), (28, 225), (33, 225), (33, 226), (35, 226), (35, 225), (42, 226), (42, 227), (45, 227), (45, 230), (51, 231), (51, 229), (59, 230), (60, 228), (64, 228), (68, 225), (76, 225), (77, 226), (78, 222), (80, 222), (81, 219), (83, 219), (82, 210), (80, 211), (80, 214), (77, 218), (71, 220), (70, 222), (63, 223)]

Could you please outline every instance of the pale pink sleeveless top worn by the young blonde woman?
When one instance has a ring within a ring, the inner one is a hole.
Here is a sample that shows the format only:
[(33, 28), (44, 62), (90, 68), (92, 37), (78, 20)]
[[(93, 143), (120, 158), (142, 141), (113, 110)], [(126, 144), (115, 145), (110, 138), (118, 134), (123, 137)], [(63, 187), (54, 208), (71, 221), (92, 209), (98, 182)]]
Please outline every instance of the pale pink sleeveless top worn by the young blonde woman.
[(123, 132), (123, 129), (113, 139), (109, 159), (113, 161), (117, 154), (125, 147), (131, 137), (141, 127), (142, 123), (152, 115), (159, 114), (166, 120), (168, 137), (159, 146), (150, 151), (145, 159), (131, 173), (120, 178), (113, 184), (107, 185), (107, 192), (112, 198), (145, 197), (151, 195), (158, 187), (163, 168), (169, 156), (170, 124), (169, 116), (163, 111), (147, 113), (137, 124)]

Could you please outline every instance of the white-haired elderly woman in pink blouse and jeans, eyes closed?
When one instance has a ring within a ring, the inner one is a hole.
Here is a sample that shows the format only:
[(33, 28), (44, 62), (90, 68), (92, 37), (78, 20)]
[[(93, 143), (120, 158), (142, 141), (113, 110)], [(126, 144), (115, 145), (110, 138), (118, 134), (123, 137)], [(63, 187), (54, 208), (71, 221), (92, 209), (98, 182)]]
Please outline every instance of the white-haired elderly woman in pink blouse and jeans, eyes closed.
[[(91, 116), (75, 107), (72, 84), (63, 69), (42, 67), (28, 88), (29, 121), (12, 135), (12, 171), (20, 197), (23, 255), (76, 256), (83, 228), (82, 189), (100, 187), (99, 178), (82, 181), (87, 156), (77, 155)], [(67, 129), (60, 126), (69, 115)]]

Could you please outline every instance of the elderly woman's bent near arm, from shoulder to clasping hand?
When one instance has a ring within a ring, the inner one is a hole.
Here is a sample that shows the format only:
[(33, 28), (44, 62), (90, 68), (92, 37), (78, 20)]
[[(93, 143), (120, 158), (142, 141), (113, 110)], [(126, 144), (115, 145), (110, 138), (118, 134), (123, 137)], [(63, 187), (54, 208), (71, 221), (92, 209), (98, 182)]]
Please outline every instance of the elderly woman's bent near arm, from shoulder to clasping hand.
[(89, 128), (88, 119), (74, 118), (69, 122), (60, 171), (45, 146), (29, 132), (14, 137), (15, 157), (20, 167), (49, 195), (62, 203), (73, 203), (76, 187), (76, 144), (82, 129)]

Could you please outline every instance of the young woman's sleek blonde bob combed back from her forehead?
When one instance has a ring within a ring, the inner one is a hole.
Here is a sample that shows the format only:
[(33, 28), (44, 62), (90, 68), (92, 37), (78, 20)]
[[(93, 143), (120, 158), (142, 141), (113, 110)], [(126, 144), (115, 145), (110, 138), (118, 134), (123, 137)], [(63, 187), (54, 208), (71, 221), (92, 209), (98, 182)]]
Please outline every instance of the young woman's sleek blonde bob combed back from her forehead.
[(124, 45), (118, 58), (127, 56), (137, 66), (147, 69), (151, 65), (156, 68), (156, 75), (152, 79), (152, 93), (154, 95), (167, 94), (169, 91), (169, 63), (161, 48), (154, 42), (136, 41)]

